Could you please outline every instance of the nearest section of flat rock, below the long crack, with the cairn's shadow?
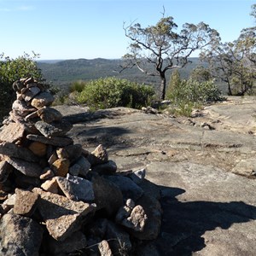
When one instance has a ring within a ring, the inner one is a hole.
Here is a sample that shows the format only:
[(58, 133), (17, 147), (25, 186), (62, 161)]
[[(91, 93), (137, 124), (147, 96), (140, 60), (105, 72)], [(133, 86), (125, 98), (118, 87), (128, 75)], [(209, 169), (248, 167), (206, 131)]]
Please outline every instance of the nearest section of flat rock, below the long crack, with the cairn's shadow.
[(255, 180), (189, 162), (147, 168), (164, 195), (160, 255), (253, 255)]

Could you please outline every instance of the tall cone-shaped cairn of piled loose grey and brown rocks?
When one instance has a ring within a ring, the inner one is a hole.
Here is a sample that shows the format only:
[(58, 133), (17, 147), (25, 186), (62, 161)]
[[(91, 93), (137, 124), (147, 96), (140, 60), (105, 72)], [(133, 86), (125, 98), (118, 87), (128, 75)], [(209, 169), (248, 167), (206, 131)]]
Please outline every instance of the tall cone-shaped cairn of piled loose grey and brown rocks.
[(0, 130), (0, 254), (143, 255), (161, 213), (145, 170), (117, 172), (102, 145), (74, 144), (44, 84), (20, 79), (13, 88)]

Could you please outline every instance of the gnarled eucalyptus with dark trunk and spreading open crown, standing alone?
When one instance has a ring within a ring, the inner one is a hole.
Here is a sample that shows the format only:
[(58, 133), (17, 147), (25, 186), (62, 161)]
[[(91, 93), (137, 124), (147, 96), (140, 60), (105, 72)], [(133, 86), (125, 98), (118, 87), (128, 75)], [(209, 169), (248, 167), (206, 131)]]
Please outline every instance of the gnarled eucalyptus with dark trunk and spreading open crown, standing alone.
[(159, 76), (160, 99), (166, 96), (166, 72), (184, 67), (189, 56), (218, 39), (218, 32), (201, 22), (185, 23), (177, 31), (172, 16), (165, 16), (154, 25), (143, 28), (139, 23), (123, 26), (125, 36), (131, 40), (128, 53), (123, 56), (122, 70), (137, 67), (149, 76)]

